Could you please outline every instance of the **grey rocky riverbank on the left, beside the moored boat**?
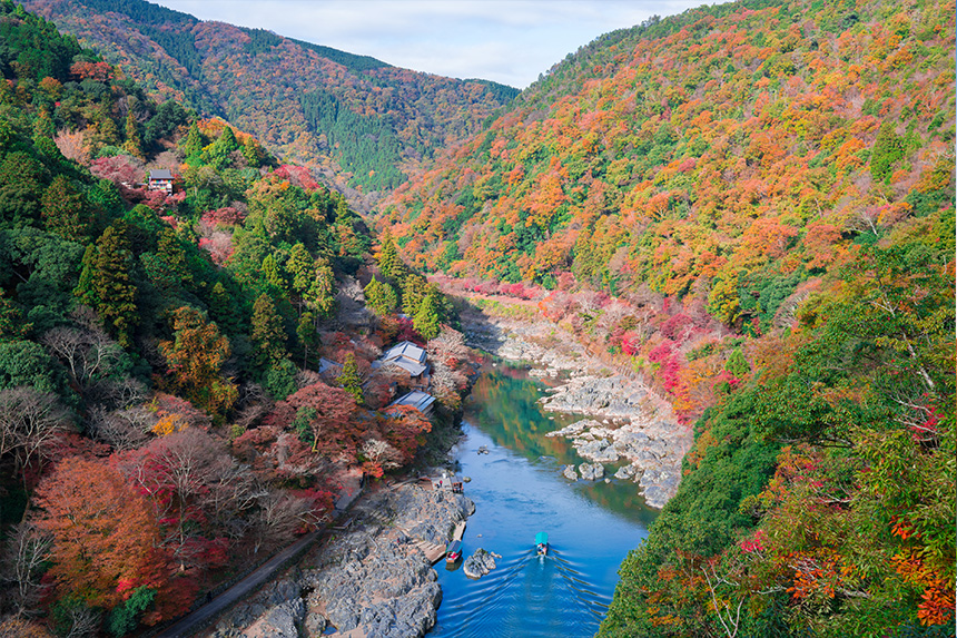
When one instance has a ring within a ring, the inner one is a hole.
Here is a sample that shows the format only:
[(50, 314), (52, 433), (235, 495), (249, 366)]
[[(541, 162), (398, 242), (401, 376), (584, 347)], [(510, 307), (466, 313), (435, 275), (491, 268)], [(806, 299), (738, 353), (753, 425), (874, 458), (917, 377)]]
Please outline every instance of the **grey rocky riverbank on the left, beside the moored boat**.
[(324, 537), (282, 580), (235, 607), (214, 638), (414, 638), (442, 601), (424, 548), (444, 546), (475, 506), (462, 494), (412, 483), (361, 499), (348, 526)]

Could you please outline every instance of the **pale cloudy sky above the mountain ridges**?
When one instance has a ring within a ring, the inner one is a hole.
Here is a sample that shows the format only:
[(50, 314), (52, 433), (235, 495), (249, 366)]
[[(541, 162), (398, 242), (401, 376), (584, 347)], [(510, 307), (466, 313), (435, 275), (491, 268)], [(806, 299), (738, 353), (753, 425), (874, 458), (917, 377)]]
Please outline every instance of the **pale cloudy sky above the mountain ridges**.
[(523, 89), (598, 36), (701, 0), (152, 0), (372, 56), (396, 67)]

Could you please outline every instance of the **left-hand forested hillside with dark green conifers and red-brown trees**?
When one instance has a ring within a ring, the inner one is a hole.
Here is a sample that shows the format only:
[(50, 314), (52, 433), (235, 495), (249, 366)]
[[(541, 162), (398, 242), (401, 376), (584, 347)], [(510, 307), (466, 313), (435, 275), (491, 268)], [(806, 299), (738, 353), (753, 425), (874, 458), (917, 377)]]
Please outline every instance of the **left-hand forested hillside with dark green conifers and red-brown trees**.
[(413, 318), (365, 311), (368, 228), (306, 168), (10, 0), (0, 42), (0, 635), (124, 636), (412, 460), (384, 345), (431, 338), (452, 409), (463, 349), (391, 243)]

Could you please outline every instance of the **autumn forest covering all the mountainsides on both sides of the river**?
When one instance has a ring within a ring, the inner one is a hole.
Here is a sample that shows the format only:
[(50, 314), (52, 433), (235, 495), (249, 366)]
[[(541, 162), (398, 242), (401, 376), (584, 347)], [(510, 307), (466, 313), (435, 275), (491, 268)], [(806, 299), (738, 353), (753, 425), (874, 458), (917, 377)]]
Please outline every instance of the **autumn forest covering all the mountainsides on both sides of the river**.
[[(432, 424), (371, 363), (425, 344), (458, 408), (444, 282), (693, 429), (601, 636), (953, 635), (953, 1), (702, 7), (517, 97), (27, 4), (71, 35), (0, 0), (3, 630), (160, 622), (320, 524), (344, 468), (407, 463)], [(277, 157), (394, 188), (382, 235)]]

